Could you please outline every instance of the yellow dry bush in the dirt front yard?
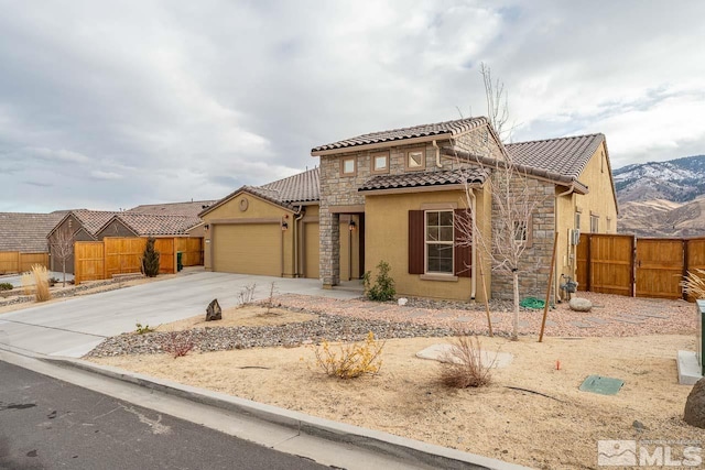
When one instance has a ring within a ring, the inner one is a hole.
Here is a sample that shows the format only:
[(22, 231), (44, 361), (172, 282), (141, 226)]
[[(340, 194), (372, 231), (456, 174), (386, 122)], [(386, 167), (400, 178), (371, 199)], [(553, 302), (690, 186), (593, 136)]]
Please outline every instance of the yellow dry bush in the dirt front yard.
[[(355, 379), (360, 375), (375, 375), (382, 367), (384, 342), (377, 341), (372, 331), (362, 342), (339, 345), (333, 348), (328, 341), (315, 347), (315, 365), (326, 375), (338, 379)], [(333, 349), (337, 349), (334, 351)]]

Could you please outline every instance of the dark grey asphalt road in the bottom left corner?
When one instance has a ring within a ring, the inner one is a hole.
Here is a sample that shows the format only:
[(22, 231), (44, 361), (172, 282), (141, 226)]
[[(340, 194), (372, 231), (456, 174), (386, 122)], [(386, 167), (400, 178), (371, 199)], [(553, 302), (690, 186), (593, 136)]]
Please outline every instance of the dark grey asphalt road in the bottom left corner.
[(0, 469), (323, 469), (0, 361)]

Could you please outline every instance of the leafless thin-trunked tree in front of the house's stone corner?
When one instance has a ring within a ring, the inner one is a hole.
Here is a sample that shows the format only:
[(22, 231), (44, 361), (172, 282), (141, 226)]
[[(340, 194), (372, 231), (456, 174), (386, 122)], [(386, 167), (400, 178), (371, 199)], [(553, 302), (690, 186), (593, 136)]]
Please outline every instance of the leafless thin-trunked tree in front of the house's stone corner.
[[(492, 81), (490, 69), (485, 64), (481, 65), (480, 73), (485, 83), (488, 121), (501, 141), (502, 133), (509, 132), (506, 130), (509, 111), (505, 85), (499, 80)], [(490, 130), (487, 132), (491, 133)], [(466, 247), (475, 244), (479, 252), (490, 260), (492, 272), (511, 276), (512, 339), (517, 339), (519, 277), (522, 269), (527, 269), (527, 263), (522, 261), (529, 248), (532, 215), (543, 203), (545, 195), (536, 190), (535, 185), (532, 184), (535, 182), (527, 177), (525, 168), (517, 164), (507, 152), (501, 151), (501, 143), (492, 144), (491, 135), (471, 139), (464, 142), (462, 146), (463, 149), (455, 151), (455, 155), (465, 186), (469, 217), (456, 218), (456, 229), (460, 232), (456, 243)], [(473, 172), (477, 172), (478, 168), (487, 177), (486, 194), (491, 197), (492, 214), (484, 214), (484, 217), (491, 217), (489, 232), (477, 225), (478, 209), (471, 182), (475, 179)]]

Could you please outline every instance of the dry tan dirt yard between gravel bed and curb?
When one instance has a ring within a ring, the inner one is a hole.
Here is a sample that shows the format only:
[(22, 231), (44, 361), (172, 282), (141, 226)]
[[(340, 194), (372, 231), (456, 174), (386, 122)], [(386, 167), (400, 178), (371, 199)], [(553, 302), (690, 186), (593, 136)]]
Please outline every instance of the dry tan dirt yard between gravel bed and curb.
[[(607, 315), (609, 297), (604, 299)], [(692, 305), (684, 309), (694, 316)], [(268, 315), (254, 307), (226, 308), (219, 325), (274, 326), (312, 317), (286, 309)], [(202, 320), (199, 315), (160, 330), (218, 325)], [(415, 357), (452, 338), (387, 340), (380, 373), (349, 381), (307, 367), (315, 345), (191, 352), (176, 359), (160, 353), (87, 359), (508, 462), (597, 468), (599, 439), (705, 442), (705, 430), (682, 419), (691, 386), (677, 384), (675, 364), (677, 350), (695, 349), (694, 334), (639, 334), (551, 336), (542, 343), (534, 335), (519, 341), (484, 337), (484, 349), (510, 352), (513, 361), (494, 370), (489, 386), (465, 390), (444, 387), (441, 365)], [(618, 378), (625, 385), (614, 396), (578, 391), (590, 374)]]

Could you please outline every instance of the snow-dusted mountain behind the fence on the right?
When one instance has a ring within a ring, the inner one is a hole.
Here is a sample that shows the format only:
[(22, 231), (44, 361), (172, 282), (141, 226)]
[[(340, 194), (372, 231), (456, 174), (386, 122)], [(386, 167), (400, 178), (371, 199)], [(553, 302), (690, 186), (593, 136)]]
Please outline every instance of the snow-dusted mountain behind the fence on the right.
[(705, 236), (705, 155), (628, 165), (612, 174), (619, 232)]

